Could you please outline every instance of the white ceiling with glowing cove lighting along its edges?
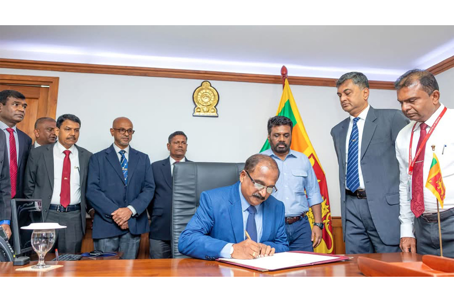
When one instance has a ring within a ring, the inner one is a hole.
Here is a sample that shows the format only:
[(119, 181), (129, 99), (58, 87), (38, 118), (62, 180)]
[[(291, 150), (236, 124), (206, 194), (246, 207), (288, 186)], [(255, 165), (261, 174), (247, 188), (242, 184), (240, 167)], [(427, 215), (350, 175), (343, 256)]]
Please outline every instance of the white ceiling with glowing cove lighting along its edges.
[(0, 26), (0, 57), (394, 81), (454, 55), (454, 26)]

